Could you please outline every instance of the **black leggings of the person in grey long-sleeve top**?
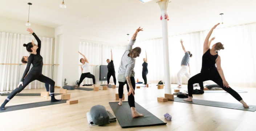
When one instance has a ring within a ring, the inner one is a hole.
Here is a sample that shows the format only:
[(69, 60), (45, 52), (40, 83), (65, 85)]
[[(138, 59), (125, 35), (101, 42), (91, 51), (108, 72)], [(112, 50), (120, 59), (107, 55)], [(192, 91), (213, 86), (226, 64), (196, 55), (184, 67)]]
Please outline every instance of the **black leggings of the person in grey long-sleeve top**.
[[(133, 89), (135, 90), (135, 79), (134, 79), (134, 77), (130, 77), (130, 79), (131, 79), (131, 85), (133, 86)], [(123, 98), (123, 88), (122, 87), (126, 84), (127, 91), (129, 92), (129, 86), (127, 84), (127, 81), (125, 81), (125, 82), (118, 81), (118, 83), (119, 83), (119, 87), (118, 87), (119, 99), (122, 99)], [(135, 101), (134, 101), (133, 94), (130, 94), (128, 96), (128, 103), (129, 103), (130, 107), (135, 107)]]

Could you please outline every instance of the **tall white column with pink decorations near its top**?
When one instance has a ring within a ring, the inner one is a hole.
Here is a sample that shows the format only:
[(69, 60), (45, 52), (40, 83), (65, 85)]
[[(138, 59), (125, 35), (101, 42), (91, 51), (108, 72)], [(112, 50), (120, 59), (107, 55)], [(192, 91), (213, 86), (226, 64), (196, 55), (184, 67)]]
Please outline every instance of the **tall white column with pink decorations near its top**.
[(161, 9), (162, 19), (162, 33), (163, 33), (163, 64), (164, 64), (164, 93), (171, 94), (171, 76), (170, 76), (170, 62), (169, 62), (169, 46), (168, 46), (168, 24), (164, 15), (167, 14), (169, 0), (163, 0), (158, 3)]

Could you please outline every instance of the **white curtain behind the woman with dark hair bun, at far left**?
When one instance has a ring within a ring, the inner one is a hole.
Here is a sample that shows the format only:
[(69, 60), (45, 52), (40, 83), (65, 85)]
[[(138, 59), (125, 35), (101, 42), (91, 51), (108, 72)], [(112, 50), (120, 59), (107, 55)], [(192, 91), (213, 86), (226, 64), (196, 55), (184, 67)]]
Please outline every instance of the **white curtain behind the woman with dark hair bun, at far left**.
[[(39, 37), (41, 40), (41, 56), (44, 64), (52, 64), (52, 44), (53, 38)], [(19, 65), (1, 65), (1, 64), (22, 64), (21, 58), (29, 56), (23, 44), (32, 40), (37, 41), (32, 35), (23, 35), (15, 33), (0, 32), (0, 91), (9, 91), (16, 89), (27, 65), (21, 65), (20, 77)], [(51, 78), (52, 66), (44, 65), (42, 74)], [(20, 79), (18, 79), (18, 77)], [(31, 82), (25, 89), (44, 88), (44, 83), (39, 81)]]

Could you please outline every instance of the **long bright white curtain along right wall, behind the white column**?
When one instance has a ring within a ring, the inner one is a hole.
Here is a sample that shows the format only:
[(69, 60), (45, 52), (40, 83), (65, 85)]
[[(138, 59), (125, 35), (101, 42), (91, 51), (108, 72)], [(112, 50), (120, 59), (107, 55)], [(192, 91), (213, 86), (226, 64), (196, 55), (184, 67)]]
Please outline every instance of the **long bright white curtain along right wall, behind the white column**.
[[(191, 75), (200, 73), (202, 67), (203, 43), (209, 30), (195, 33), (182, 34), (169, 37), (169, 59), (171, 70), (171, 83), (177, 83), (176, 75), (180, 70), (180, 63), (184, 56), (180, 39), (187, 51), (193, 55), (190, 58)], [(211, 35), (216, 37), (212, 44), (222, 42), (224, 50), (220, 50), (222, 69), (225, 78), (231, 86), (256, 86), (256, 23), (238, 25), (215, 29)], [(142, 48), (141, 56), (135, 65), (135, 78), (143, 82), (142, 63), (147, 50), (148, 82), (164, 80), (163, 75), (163, 47), (162, 38), (140, 41), (135, 43)], [(182, 83), (187, 84), (188, 78), (182, 77)], [(212, 84), (212, 81), (204, 83)]]

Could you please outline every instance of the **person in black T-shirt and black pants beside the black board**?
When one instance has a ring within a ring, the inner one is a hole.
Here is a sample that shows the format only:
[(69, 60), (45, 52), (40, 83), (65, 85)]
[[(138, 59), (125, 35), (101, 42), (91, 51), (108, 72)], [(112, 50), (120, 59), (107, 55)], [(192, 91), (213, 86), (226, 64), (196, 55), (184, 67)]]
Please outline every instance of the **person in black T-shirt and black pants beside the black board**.
[(114, 83), (115, 85), (117, 84), (117, 79), (115, 78), (115, 67), (114, 67), (114, 63), (113, 63), (113, 54), (112, 54), (112, 49), (111, 49), (111, 61), (109, 61), (109, 59), (107, 59), (107, 85), (109, 85), (109, 80), (111, 75), (113, 76), (114, 79)]

